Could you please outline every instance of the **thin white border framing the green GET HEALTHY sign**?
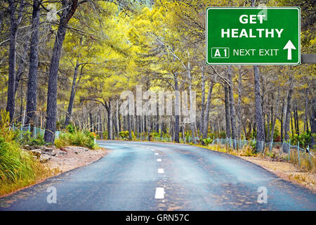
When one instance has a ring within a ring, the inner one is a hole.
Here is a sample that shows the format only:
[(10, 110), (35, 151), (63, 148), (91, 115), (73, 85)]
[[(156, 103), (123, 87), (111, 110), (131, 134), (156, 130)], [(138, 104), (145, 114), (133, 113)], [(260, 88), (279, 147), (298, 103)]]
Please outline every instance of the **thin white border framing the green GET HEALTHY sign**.
[[(296, 9), (298, 11), (298, 62), (297, 63), (209, 63), (208, 60), (208, 41), (207, 41), (207, 34), (208, 34), (208, 11), (211, 9)], [(207, 7), (206, 8), (206, 22), (205, 22), (205, 41), (206, 41), (206, 65), (301, 65), (301, 8), (298, 6), (294, 7)]]

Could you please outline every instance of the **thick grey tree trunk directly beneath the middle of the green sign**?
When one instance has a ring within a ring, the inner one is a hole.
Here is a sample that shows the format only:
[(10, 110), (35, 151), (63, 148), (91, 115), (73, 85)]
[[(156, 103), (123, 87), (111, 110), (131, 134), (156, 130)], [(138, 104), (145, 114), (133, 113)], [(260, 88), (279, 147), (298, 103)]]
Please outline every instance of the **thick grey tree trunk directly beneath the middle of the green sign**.
[(261, 91), (260, 91), (260, 74), (258, 65), (254, 65), (254, 91), (255, 91), (255, 101), (256, 101), (256, 150), (259, 148), (258, 141), (265, 140), (265, 133), (263, 129), (263, 113), (261, 105)]

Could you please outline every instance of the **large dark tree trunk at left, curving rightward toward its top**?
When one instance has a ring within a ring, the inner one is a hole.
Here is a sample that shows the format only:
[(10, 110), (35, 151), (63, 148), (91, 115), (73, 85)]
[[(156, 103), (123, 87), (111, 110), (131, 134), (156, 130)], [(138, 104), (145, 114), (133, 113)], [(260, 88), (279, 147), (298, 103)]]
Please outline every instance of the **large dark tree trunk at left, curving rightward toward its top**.
[(60, 23), (58, 25), (57, 35), (53, 46), (53, 56), (51, 57), (51, 65), (48, 78), (48, 91), (47, 91), (47, 119), (44, 140), (48, 143), (54, 143), (56, 131), (56, 114), (57, 114), (57, 78), (58, 67), (60, 60), (60, 53), (62, 43), (65, 39), (67, 32), (67, 25), (77, 10), (78, 0), (62, 1), (62, 14), (60, 15)]

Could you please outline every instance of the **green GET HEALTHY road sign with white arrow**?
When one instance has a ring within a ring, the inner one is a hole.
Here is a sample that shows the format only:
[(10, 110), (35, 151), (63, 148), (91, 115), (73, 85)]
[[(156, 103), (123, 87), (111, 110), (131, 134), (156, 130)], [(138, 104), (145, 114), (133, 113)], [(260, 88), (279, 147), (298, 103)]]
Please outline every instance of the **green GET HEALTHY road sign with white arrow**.
[(206, 64), (301, 64), (299, 7), (206, 8)]

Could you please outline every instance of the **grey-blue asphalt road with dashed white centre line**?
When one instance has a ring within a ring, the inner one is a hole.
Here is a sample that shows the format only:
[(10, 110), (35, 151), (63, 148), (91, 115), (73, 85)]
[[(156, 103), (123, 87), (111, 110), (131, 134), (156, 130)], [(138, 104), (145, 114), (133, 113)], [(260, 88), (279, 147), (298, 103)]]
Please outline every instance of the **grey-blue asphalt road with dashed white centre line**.
[(104, 158), (1, 198), (0, 210), (316, 210), (308, 189), (233, 155), (171, 143), (98, 143), (110, 150)]

